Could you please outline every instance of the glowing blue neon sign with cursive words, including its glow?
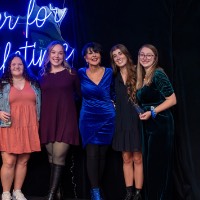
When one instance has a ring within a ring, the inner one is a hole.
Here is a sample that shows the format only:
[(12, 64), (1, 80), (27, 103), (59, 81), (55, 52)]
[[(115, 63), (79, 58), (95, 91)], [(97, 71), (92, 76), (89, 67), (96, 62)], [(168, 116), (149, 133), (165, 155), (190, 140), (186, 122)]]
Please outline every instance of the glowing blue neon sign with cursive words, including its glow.
[[(21, 24), (25, 25), (25, 32), (23, 33), (23, 36), (25, 36), (24, 44), (21, 47), (18, 47), (17, 51), (13, 52), (12, 42), (7, 41), (4, 46), (3, 63), (0, 70), (4, 70), (4, 64), (11, 52), (22, 54), (29, 67), (31, 65), (38, 65), (41, 67), (46, 50), (43, 48), (39, 49), (37, 42), (29, 42), (30, 29), (37, 30), (37, 32), (48, 31), (50, 33), (55, 30), (54, 34), (59, 34), (60, 40), (64, 43), (67, 52), (66, 60), (68, 60), (74, 54), (74, 49), (64, 41), (60, 32), (60, 25), (66, 13), (67, 8), (59, 9), (58, 7), (54, 7), (52, 4), (49, 4), (49, 6), (39, 7), (35, 0), (30, 0), (27, 15), (25, 17), (15, 17), (9, 15), (7, 12), (0, 13), (0, 31), (2, 31), (3, 28), (6, 28), (8, 31), (13, 31), (17, 26), (21, 26)], [(51, 26), (49, 24), (51, 24)], [(49, 30), (49, 28), (51, 28), (51, 30)], [(28, 57), (31, 59), (28, 59)]]

